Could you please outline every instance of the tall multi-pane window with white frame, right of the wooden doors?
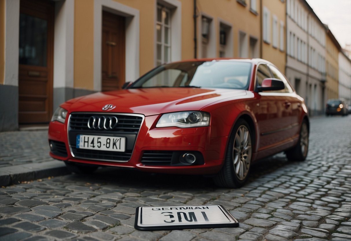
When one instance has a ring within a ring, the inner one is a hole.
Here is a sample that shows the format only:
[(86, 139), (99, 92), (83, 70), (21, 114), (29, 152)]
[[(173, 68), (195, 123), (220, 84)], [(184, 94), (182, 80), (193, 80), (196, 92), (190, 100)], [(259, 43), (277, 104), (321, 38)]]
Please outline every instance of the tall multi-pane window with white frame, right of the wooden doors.
[(169, 8), (157, 5), (156, 22), (157, 65), (171, 61), (171, 11)]

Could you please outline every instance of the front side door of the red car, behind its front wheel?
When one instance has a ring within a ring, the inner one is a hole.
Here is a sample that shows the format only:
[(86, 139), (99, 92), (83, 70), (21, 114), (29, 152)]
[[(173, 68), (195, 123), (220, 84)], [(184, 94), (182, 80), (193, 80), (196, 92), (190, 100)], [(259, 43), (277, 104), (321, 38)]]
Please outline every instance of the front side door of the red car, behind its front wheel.
[[(256, 87), (260, 86), (265, 78), (275, 78), (275, 76), (269, 65), (261, 63), (257, 67)], [(258, 151), (266, 156), (276, 152), (290, 138), (289, 109), (291, 106), (284, 92), (263, 91), (258, 92), (258, 95), (260, 98)]]

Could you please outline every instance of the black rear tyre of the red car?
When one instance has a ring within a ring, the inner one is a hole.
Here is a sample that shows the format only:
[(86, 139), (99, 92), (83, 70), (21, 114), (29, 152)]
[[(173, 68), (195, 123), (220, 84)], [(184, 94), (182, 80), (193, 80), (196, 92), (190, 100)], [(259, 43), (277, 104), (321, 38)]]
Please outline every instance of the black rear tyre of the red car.
[(301, 124), (299, 141), (296, 146), (285, 151), (286, 157), (289, 161), (302, 162), (305, 161), (308, 154), (309, 146), (309, 128), (308, 123), (304, 120)]

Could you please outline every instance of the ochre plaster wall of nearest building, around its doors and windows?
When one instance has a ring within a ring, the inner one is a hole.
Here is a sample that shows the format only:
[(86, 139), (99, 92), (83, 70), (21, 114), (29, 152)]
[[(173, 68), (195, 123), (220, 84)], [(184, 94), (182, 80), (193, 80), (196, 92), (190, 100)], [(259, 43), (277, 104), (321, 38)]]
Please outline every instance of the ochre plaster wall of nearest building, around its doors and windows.
[[(155, 63), (155, 18), (157, 0), (114, 0), (128, 7), (138, 9), (140, 14), (140, 75), (154, 67)], [(179, 0), (181, 2), (181, 59), (194, 58), (194, 19), (193, 1)], [(201, 13), (213, 18), (214, 31), (216, 31), (216, 57), (219, 56), (219, 19), (232, 26), (233, 57), (239, 57), (239, 31), (258, 39), (260, 42), (260, 9), (257, 1), (257, 12), (250, 12), (250, 1), (247, 6), (239, 4), (236, 0), (197, 1), (198, 26)], [(285, 13), (285, 12), (284, 12)], [(75, 0), (74, 5), (74, 87), (94, 90), (94, 2)], [(245, 20), (244, 20), (245, 19)], [(197, 29), (199, 33), (199, 27)], [(249, 46), (249, 42), (247, 46)], [(198, 39), (198, 51), (201, 46)], [(249, 50), (247, 50), (249, 51)], [(259, 52), (259, 51), (258, 51)], [(126, 53), (128, 54), (128, 53)], [(198, 54), (199, 57), (199, 54)]]

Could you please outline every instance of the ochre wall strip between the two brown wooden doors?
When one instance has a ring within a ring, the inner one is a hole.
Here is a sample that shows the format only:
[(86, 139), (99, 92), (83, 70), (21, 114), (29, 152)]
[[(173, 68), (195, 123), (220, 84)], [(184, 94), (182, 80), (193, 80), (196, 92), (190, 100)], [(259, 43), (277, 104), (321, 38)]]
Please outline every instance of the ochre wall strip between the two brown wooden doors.
[(74, 1), (74, 87), (94, 90), (93, 1)]

